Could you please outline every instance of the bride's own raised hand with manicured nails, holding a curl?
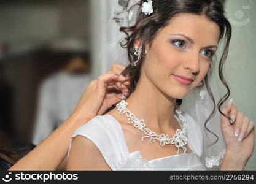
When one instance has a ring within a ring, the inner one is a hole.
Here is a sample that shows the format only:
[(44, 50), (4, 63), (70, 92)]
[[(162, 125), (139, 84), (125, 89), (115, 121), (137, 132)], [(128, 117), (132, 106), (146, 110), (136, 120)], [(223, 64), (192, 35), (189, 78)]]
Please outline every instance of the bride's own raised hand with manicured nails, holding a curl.
[(250, 121), (248, 117), (245, 117), (244, 113), (238, 112), (233, 102), (229, 102), (222, 109), (222, 112), (235, 121), (235, 123), (231, 124), (227, 117), (221, 115), (221, 128), (227, 145), (227, 151), (233, 153), (235, 158), (247, 162), (254, 151), (254, 122)]

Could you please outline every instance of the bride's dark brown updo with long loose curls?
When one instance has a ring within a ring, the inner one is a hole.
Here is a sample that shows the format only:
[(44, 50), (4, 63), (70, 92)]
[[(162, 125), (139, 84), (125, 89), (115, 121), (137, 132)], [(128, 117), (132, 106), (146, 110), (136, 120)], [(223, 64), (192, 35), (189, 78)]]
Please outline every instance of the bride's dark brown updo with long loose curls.
[[(153, 40), (155, 39), (155, 36), (157, 35), (158, 31), (163, 29), (165, 26), (168, 25), (171, 18), (174, 17), (177, 13), (192, 13), (195, 15), (205, 15), (209, 20), (214, 21), (217, 23), (217, 25), (220, 28), (220, 37), (219, 41), (223, 39), (224, 42), (224, 48), (223, 53), (219, 61), (219, 77), (222, 81), (225, 88), (227, 88), (228, 92), (219, 100), (217, 106), (219, 112), (227, 117), (230, 120), (230, 117), (222, 113), (220, 110), (220, 107), (222, 104), (227, 101), (228, 97), (230, 96), (230, 89), (228, 88), (227, 82), (225, 81), (223, 77), (223, 64), (225, 63), (225, 60), (227, 59), (228, 55), (228, 48), (230, 44), (231, 39), (231, 25), (227, 18), (225, 17), (225, 11), (223, 7), (223, 1), (220, 0), (153, 0), (153, 13), (151, 15), (145, 15), (142, 13), (142, 4), (143, 2), (147, 2), (147, 0), (141, 0), (136, 4), (136, 6), (139, 6), (139, 11), (136, 19), (136, 24), (134, 26), (128, 26), (128, 27), (121, 27), (120, 31), (126, 34), (126, 38), (124, 42), (121, 42), (120, 45), (123, 48), (126, 48), (128, 51), (128, 59), (130, 61), (130, 65), (125, 68), (125, 70), (122, 72), (122, 75), (129, 76), (131, 85), (128, 86), (128, 96), (130, 96), (131, 93), (136, 89), (136, 84), (138, 83), (140, 72), (141, 72), (141, 66), (142, 62), (144, 60), (144, 57), (142, 56), (139, 59), (138, 66), (133, 66), (132, 63), (136, 61), (136, 56), (134, 56), (134, 43), (136, 40), (141, 40), (141, 47), (142, 47), (142, 53), (145, 53), (145, 45), (149, 44), (151, 46)], [(131, 6), (133, 8), (133, 6)], [(131, 9), (130, 9), (131, 10)], [(130, 12), (128, 10), (128, 12)], [(203, 80), (203, 85), (206, 85), (206, 88), (208, 90), (209, 96), (212, 99), (212, 102), (214, 103), (214, 109), (211, 112), (211, 115), (207, 118), (207, 120), (204, 123), (204, 127), (211, 132), (207, 128), (207, 123), (210, 120), (210, 118), (215, 113), (215, 99), (211, 91), (211, 86), (209, 86), (208, 77), (212, 74), (212, 62), (213, 58), (211, 59), (210, 69), (208, 74)], [(202, 87), (202, 86), (200, 86)], [(176, 104), (180, 105), (182, 103), (182, 99), (177, 99)], [(211, 132), (214, 134), (213, 132)], [(214, 134), (215, 137), (217, 137), (216, 142), (219, 140), (219, 137)], [(215, 142), (215, 143), (216, 143)], [(214, 144), (215, 144), (214, 143)]]

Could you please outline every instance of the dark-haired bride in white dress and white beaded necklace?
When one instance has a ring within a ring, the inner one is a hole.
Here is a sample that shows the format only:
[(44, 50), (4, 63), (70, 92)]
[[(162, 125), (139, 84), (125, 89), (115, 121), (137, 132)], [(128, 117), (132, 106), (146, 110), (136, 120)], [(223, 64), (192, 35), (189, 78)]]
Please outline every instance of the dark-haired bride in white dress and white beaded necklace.
[[(203, 131), (179, 105), (201, 82), (211, 94), (208, 77), (223, 38), (219, 75), (228, 88), (222, 66), (231, 26), (222, 2), (143, 0), (128, 7), (129, 13), (138, 8), (135, 25), (120, 28), (127, 36), (122, 47), (130, 65), (122, 75), (129, 77), (128, 93), (116, 108), (76, 130), (66, 169), (206, 170)], [(221, 113), (227, 151), (215, 166), (242, 170), (254, 149), (254, 123), (232, 102)]]

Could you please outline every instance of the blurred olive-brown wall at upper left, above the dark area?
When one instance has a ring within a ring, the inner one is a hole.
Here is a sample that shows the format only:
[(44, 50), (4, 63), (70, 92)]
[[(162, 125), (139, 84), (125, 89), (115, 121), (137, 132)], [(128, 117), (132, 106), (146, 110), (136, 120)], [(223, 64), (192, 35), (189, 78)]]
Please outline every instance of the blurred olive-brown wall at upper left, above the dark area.
[[(0, 46), (23, 53), (62, 37), (90, 39), (90, 1), (0, 1)], [(83, 24), (81, 24), (83, 23)], [(0, 50), (0, 58), (3, 53)]]

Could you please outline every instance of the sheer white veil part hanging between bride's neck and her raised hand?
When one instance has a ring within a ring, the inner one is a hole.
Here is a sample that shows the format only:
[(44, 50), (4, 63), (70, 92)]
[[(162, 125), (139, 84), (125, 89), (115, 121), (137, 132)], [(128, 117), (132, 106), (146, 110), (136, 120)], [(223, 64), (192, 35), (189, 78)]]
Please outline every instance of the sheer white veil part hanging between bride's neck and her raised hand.
[(190, 93), (182, 99), (180, 109), (192, 116), (201, 128), (201, 132), (203, 133), (203, 151), (201, 161), (205, 164), (206, 168), (217, 170), (223, 156), (225, 155), (226, 144), (220, 127), (221, 118), (220, 112), (217, 109), (217, 101), (219, 101), (220, 96), (214, 75), (208, 76), (208, 83), (216, 101), (216, 107), (214, 115), (208, 121), (206, 126), (211, 132), (214, 132), (214, 134), (219, 137), (216, 144), (214, 144), (214, 142), (217, 140), (217, 137), (207, 131), (204, 127), (204, 122), (209, 115), (211, 115), (211, 112), (214, 109), (214, 102), (208, 94), (206, 84), (204, 84), (201, 89), (195, 88), (190, 91)]

